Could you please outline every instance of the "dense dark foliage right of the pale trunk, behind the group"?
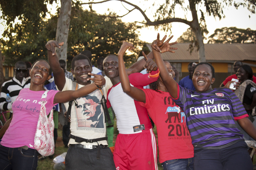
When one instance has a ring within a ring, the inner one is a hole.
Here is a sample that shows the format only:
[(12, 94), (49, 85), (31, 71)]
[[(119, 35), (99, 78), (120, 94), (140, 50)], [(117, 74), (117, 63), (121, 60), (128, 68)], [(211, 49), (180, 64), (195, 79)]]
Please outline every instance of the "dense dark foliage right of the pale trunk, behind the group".
[(101, 17), (94, 11), (72, 9), (72, 16), (74, 17), (70, 21), (68, 60), (72, 60), (73, 56), (83, 50), (89, 50), (93, 54), (92, 64), (96, 64), (97, 58), (101, 56), (117, 55), (122, 41), (129, 41), (134, 44), (135, 53), (132, 56), (124, 56), (125, 64), (130, 66), (136, 61), (143, 43), (137, 34), (137, 29), (141, 27), (114, 18), (114, 13), (110, 14), (112, 17)]

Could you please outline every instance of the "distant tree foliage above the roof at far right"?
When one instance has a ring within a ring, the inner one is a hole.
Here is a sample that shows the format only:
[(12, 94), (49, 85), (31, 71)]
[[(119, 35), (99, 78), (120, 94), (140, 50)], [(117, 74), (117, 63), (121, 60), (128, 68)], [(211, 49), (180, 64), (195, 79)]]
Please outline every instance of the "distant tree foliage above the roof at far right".
[(209, 36), (208, 43), (256, 43), (256, 30), (239, 29), (236, 27), (223, 27), (221, 29), (215, 29), (214, 34)]

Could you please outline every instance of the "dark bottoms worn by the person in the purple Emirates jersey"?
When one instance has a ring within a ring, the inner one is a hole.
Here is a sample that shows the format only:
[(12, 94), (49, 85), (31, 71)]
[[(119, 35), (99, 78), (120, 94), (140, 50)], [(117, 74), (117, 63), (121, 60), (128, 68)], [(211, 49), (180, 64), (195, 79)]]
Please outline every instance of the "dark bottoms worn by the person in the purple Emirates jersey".
[(194, 148), (196, 170), (253, 170), (248, 146), (239, 140), (221, 149)]

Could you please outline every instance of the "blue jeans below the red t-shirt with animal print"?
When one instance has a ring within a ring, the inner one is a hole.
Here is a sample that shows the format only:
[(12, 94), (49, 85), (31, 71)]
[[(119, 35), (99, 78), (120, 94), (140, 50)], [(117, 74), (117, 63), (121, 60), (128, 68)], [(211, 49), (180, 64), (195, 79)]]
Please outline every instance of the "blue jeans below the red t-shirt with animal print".
[(187, 159), (173, 159), (162, 163), (164, 170), (194, 170), (194, 157)]

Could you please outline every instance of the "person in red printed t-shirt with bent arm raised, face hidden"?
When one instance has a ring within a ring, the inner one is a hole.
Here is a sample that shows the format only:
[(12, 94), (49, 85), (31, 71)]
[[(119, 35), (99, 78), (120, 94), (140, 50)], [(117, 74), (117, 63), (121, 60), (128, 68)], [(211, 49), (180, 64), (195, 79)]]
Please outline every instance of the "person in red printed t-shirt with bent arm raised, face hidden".
[[(151, 83), (149, 85), (150, 89), (138, 89), (130, 85), (125, 71), (123, 55), (127, 49), (132, 48), (132, 44), (125, 42), (118, 52), (118, 67), (122, 88), (127, 95), (147, 108), (149, 116), (156, 124), (159, 161), (162, 163), (164, 170), (193, 170), (194, 147), (186, 126), (186, 116), (171, 99), (162, 79), (159, 77), (157, 82)], [(162, 49), (162, 52), (165, 52), (164, 49)], [(144, 57), (147, 60), (147, 56), (144, 55)], [(168, 61), (164, 63), (169, 74), (174, 77), (175, 73), (171, 64)], [(136, 75), (134, 76), (136, 77)]]

